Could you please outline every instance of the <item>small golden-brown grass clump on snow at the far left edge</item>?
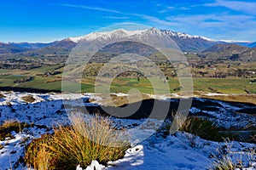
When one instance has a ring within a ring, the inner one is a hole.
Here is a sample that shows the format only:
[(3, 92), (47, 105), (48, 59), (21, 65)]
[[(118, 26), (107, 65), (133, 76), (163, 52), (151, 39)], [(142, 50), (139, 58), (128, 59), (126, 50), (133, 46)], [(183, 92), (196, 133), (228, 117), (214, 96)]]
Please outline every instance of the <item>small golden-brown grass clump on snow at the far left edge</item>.
[(4, 122), (2, 126), (0, 126), (0, 140), (4, 140), (6, 138), (14, 138), (11, 132), (19, 133), (23, 130), (23, 128), (27, 127), (28, 124), (20, 123), (20, 122)]

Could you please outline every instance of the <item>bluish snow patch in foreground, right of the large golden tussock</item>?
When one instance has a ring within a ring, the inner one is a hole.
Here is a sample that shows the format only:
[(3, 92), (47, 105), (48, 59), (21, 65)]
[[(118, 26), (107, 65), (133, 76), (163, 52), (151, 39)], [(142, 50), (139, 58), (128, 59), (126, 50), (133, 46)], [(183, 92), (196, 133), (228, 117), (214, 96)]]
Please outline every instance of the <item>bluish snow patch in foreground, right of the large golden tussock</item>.
[[(191, 145), (192, 140), (195, 145)], [(212, 168), (212, 162), (216, 161), (217, 156), (224, 154), (219, 152), (226, 147), (234, 162), (241, 160), (246, 164), (248, 157), (253, 156), (253, 152), (243, 150), (255, 148), (255, 144), (217, 143), (181, 132), (168, 135), (166, 138), (155, 134), (127, 150), (125, 157), (111, 162), (114, 166), (108, 169), (209, 169)]]

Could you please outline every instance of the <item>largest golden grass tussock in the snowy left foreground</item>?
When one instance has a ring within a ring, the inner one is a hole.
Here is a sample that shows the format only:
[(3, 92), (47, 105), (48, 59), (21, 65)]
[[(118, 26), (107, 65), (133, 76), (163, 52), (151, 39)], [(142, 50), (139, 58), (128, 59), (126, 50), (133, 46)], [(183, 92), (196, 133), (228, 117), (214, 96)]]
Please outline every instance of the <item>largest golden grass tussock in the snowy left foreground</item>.
[(106, 117), (93, 116), (84, 122), (83, 116), (74, 114), (70, 120), (72, 126), (57, 127), (55, 133), (32, 140), (26, 148), (28, 167), (75, 169), (80, 165), (85, 168), (92, 160), (106, 165), (125, 156), (125, 150), (130, 147), (125, 133), (115, 131)]

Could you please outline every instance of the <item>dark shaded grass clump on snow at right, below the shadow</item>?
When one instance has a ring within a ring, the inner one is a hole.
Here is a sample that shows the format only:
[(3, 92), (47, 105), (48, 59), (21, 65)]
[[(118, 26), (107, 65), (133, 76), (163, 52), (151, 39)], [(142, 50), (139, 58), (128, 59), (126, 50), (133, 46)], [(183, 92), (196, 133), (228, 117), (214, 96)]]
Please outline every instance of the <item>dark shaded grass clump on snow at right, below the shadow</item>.
[(219, 133), (218, 125), (210, 120), (200, 117), (190, 116), (181, 125), (180, 131), (192, 133), (201, 139), (221, 141), (221, 133)]

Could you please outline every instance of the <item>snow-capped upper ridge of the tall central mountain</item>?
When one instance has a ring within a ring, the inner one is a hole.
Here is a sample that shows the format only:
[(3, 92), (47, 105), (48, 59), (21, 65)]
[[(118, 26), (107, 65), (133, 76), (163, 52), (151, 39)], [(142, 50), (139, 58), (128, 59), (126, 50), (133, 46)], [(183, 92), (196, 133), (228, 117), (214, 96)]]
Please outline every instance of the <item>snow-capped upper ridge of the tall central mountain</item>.
[(147, 37), (162, 37), (168, 36), (171, 37), (174, 42), (177, 43), (179, 48), (187, 52), (201, 52), (207, 48), (210, 48), (212, 45), (217, 43), (226, 43), (214, 41), (207, 37), (201, 36), (191, 36), (186, 33), (169, 31), (169, 30), (159, 30), (156, 28), (149, 28), (148, 30), (140, 31), (127, 31), (124, 29), (113, 30), (113, 31), (103, 31), (103, 32), (93, 32), (82, 37), (69, 37), (68, 41), (80, 42), (80, 41), (108, 41), (115, 38), (123, 37), (137, 37), (140, 39), (147, 39)]

